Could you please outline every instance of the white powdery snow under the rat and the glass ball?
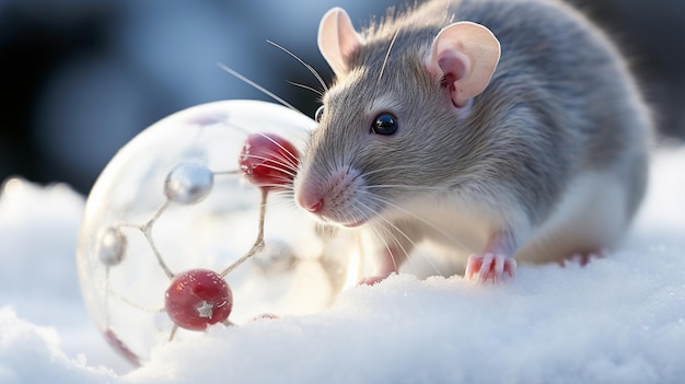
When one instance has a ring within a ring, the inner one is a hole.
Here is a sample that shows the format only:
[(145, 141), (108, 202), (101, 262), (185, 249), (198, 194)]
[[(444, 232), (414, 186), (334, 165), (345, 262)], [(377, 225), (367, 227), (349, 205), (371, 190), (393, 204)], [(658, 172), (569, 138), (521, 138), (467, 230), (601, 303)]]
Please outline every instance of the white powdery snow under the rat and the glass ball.
[(5, 183), (0, 383), (680, 383), (685, 379), (685, 148), (654, 158), (624, 245), (516, 279), (395, 276), (307, 316), (217, 326), (131, 368), (79, 293), (83, 197)]

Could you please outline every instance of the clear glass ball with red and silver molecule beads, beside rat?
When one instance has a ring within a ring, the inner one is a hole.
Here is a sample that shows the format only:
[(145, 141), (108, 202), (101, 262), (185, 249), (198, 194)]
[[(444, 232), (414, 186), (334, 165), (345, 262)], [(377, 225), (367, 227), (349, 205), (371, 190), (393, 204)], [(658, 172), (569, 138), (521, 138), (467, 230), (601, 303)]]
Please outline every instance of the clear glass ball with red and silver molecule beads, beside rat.
[(89, 195), (78, 248), (86, 306), (135, 364), (210, 326), (306, 314), (359, 277), (356, 238), (292, 201), (315, 123), (257, 101), (198, 105), (143, 130)]

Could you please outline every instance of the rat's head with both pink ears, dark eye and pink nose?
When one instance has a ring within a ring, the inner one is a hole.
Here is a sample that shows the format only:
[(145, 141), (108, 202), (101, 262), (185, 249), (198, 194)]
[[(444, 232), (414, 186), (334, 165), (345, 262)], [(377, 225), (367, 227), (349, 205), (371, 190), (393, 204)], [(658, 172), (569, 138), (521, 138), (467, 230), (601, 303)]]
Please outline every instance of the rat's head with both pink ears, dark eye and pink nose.
[(449, 185), (469, 144), (463, 126), (472, 100), (499, 60), (490, 31), (460, 22), (364, 38), (334, 9), (321, 22), (318, 46), (337, 81), (316, 113), (297, 203), (356, 226)]

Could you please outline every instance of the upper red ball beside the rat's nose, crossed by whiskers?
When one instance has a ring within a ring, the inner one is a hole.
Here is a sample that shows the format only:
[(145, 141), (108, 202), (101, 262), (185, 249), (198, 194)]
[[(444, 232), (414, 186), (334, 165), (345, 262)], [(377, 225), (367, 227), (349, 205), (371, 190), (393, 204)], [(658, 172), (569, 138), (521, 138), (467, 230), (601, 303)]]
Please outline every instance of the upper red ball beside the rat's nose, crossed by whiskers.
[(243, 143), (237, 164), (249, 182), (272, 189), (292, 183), (299, 156), (290, 141), (272, 133), (253, 133)]

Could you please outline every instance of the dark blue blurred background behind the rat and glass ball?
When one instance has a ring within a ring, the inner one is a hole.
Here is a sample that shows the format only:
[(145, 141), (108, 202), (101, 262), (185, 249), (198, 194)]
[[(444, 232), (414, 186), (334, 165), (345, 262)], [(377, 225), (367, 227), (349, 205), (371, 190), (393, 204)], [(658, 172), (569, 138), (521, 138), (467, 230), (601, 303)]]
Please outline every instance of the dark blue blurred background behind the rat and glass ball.
[[(270, 39), (332, 72), (321, 16), (357, 27), (414, 0), (0, 0), (0, 182), (65, 182), (88, 194), (116, 151), (160, 118), (227, 98), (270, 101), (223, 62), (312, 116), (314, 77)], [(685, 1), (573, 0), (622, 44), (662, 139), (685, 137)]]

